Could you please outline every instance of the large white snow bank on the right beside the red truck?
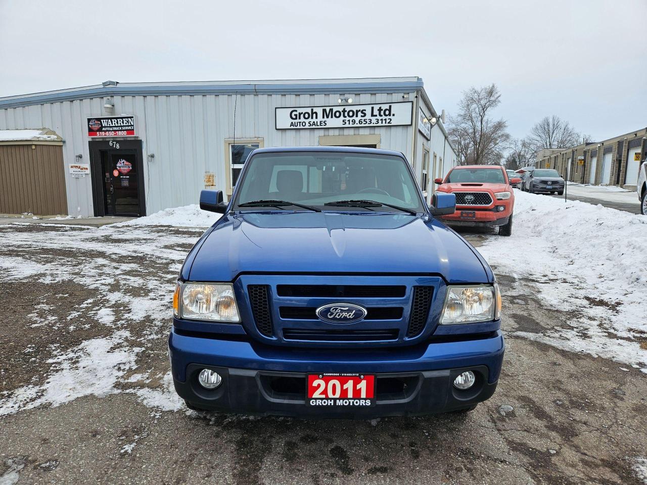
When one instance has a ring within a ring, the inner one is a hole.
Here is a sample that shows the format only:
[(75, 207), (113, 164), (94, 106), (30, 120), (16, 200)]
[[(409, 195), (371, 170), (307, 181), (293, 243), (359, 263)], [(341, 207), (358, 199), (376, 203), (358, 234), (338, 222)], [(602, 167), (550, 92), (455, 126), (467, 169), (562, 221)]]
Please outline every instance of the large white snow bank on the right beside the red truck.
[(545, 334), (516, 334), (647, 372), (647, 217), (520, 191), (515, 197), (512, 236), (492, 238), (479, 252), (534, 279), (548, 306), (574, 315), (565, 328), (555, 322)]

